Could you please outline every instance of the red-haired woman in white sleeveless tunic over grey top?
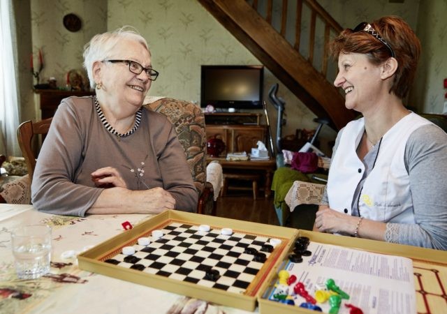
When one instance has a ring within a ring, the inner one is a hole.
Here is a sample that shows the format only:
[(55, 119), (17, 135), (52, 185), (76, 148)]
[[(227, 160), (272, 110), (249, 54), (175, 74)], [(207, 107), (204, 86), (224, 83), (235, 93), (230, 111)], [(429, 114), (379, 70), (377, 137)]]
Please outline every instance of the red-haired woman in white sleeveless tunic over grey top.
[(335, 86), (362, 114), (340, 130), (314, 231), (447, 249), (447, 134), (402, 104), (420, 43), (400, 17), (331, 43)]

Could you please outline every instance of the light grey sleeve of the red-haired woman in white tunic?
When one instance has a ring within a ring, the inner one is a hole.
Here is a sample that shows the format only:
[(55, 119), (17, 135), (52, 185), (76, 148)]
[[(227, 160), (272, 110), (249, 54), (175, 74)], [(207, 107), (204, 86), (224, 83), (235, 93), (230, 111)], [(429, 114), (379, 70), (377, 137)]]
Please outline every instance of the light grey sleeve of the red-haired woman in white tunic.
[(386, 240), (447, 250), (447, 134), (434, 125), (418, 128), (404, 159), (416, 223), (388, 223)]

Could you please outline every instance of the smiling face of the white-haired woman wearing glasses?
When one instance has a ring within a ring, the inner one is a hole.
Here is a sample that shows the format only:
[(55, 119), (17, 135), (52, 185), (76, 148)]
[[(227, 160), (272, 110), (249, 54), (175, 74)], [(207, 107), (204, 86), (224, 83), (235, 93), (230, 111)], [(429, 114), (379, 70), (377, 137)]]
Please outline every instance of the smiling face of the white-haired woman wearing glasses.
[[(151, 66), (151, 56), (145, 46), (127, 38), (115, 45), (108, 59), (136, 61), (145, 68)], [(100, 103), (103, 100), (110, 105), (130, 105), (135, 111), (142, 105), (152, 83), (144, 70), (140, 74), (132, 73), (129, 64), (125, 62), (97, 62), (96, 67), (94, 65), (94, 75), (98, 75), (96, 82), (103, 84), (96, 91)]]

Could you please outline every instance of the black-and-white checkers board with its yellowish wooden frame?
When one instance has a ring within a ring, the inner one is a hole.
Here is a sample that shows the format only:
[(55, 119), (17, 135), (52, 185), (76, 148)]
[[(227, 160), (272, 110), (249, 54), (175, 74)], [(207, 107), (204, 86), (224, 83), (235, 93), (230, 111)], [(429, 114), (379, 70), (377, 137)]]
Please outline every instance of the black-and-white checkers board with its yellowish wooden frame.
[[(210, 231), (200, 231), (203, 224)], [(222, 228), (233, 229), (233, 234), (221, 234)], [(163, 237), (152, 238), (153, 230), (163, 231)], [(87, 271), (254, 311), (265, 279), (297, 234), (286, 227), (165, 211), (78, 255), (78, 262)], [(140, 237), (148, 237), (149, 245), (139, 245)], [(279, 244), (265, 251), (270, 239), (279, 239)], [(122, 254), (125, 246), (135, 253)], [(256, 261), (253, 248), (265, 259)], [(207, 278), (210, 269), (219, 272), (218, 278)]]

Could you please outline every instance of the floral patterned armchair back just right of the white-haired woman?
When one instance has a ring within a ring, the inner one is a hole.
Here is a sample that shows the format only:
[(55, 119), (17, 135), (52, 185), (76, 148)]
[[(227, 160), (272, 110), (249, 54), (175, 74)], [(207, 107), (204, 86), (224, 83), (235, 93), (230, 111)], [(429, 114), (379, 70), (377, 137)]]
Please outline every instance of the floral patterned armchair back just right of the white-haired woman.
[(165, 114), (174, 125), (184, 148), (186, 161), (199, 195), (198, 214), (215, 214), (214, 190), (206, 178), (205, 116), (200, 107), (189, 101), (161, 98), (151, 102), (147, 97), (145, 107)]

